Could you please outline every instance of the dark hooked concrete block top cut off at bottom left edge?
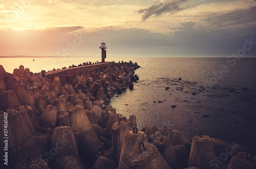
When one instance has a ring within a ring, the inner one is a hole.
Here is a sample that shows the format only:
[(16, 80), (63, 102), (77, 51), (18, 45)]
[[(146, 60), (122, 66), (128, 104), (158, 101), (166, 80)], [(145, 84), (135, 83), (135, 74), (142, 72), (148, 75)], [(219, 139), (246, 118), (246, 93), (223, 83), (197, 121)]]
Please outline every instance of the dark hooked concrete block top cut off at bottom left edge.
[(41, 169), (49, 169), (48, 164), (39, 158), (31, 158), (20, 161), (13, 169), (27, 169), (27, 168), (41, 168)]

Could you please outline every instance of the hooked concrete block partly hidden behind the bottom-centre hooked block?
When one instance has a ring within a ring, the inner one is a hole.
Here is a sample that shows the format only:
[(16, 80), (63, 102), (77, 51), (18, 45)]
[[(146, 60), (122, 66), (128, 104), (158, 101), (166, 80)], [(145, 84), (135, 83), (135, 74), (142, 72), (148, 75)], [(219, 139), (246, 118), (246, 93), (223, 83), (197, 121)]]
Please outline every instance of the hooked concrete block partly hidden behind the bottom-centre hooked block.
[(119, 160), (119, 168), (126, 168), (127, 164), (127, 155), (130, 151), (140, 143), (148, 143), (147, 136), (142, 131), (137, 131), (135, 127), (133, 131), (126, 132), (123, 137), (122, 150)]

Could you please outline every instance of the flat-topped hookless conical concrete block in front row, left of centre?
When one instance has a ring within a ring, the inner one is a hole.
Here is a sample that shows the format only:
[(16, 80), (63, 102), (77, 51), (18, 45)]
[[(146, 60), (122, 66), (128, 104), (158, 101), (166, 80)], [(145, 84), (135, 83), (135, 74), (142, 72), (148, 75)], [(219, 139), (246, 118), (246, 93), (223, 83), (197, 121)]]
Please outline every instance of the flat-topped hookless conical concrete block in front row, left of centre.
[(59, 126), (54, 129), (51, 149), (54, 150), (54, 154), (56, 154), (52, 158), (53, 163), (64, 156), (75, 156), (79, 158), (74, 133), (71, 127)]

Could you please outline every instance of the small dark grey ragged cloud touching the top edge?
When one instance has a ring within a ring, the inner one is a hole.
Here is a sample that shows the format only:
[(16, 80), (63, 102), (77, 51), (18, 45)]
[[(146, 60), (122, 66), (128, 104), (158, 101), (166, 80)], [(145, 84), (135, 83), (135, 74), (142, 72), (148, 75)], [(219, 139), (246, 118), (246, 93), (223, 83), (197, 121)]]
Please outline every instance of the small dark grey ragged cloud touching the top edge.
[(180, 4), (188, 2), (189, 0), (174, 0), (166, 2), (155, 2), (152, 6), (138, 10), (139, 14), (142, 14), (142, 20), (145, 21), (149, 17), (155, 15), (160, 16), (165, 13), (177, 13), (183, 11), (188, 7), (180, 7)]

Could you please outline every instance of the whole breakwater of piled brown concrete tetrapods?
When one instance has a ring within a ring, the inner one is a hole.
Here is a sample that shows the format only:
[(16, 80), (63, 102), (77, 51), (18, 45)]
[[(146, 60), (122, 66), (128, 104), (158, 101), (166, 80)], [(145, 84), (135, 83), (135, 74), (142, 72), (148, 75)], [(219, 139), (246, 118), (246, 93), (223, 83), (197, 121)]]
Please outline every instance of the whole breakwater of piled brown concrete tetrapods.
[[(139, 66), (121, 62), (80, 67), (72, 68), (72, 73), (63, 69), (32, 74), (22, 66), (12, 75), (1, 70), (1, 119), (7, 112), (10, 167), (225, 168), (234, 150), (244, 151), (231, 144), (227, 159), (224, 154), (221, 159), (225, 160), (218, 162), (216, 158), (227, 148), (222, 139), (200, 133), (185, 140), (184, 132), (167, 127), (135, 128), (134, 115), (127, 119), (108, 102), (115, 92), (133, 88), (138, 79), (134, 70)], [(5, 153), (4, 147), (1, 151)], [(240, 154), (235, 158), (250, 162), (249, 154)], [(236, 160), (231, 161), (236, 165)]]

